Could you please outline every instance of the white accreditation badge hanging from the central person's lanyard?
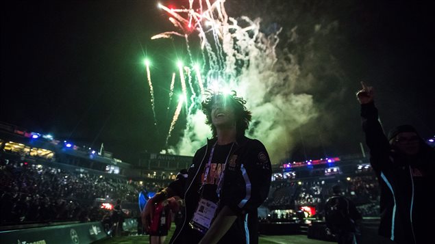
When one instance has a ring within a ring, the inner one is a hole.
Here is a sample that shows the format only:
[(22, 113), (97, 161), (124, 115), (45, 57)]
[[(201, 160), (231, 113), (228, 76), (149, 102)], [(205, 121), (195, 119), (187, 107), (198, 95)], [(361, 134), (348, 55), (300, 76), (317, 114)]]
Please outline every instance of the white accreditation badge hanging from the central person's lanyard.
[(190, 220), (190, 227), (199, 230), (199, 232), (206, 233), (210, 228), (217, 207), (216, 203), (201, 198), (197, 210), (193, 214), (192, 220)]

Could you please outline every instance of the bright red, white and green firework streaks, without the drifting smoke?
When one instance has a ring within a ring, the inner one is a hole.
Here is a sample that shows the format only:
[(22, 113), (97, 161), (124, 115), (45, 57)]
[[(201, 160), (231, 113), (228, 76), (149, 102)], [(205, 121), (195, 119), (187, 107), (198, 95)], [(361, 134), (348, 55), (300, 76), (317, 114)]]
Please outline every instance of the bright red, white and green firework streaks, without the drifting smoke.
[[(183, 105), (186, 106), (187, 124), (184, 134), (187, 136), (192, 131), (196, 131), (195, 127), (197, 127), (197, 124), (195, 124), (195, 121), (192, 121), (192, 118), (196, 113), (200, 112), (199, 108), (205, 90), (219, 92), (236, 90), (239, 94), (241, 92), (240, 87), (238, 87), (240, 77), (238, 77), (236, 72), (236, 62), (239, 65), (243, 64), (243, 66), (238, 68), (247, 68), (249, 63), (249, 45), (255, 43), (255, 40), (251, 40), (255, 38), (255, 35), (251, 36), (252, 33), (258, 33), (258, 25), (250, 21), (249, 18), (243, 18), (245, 20), (244, 23), (247, 23), (248, 26), (239, 27), (238, 22), (234, 18), (227, 16), (223, 3), (224, 1), (222, 0), (213, 2), (206, 0), (206, 5), (203, 6), (202, 1), (189, 0), (189, 8), (187, 9), (174, 9), (167, 8), (161, 4), (158, 5), (158, 8), (169, 14), (168, 19), (173, 23), (177, 31), (159, 33), (151, 37), (151, 40), (170, 38), (171, 36), (185, 38), (191, 62), (188, 65), (184, 65), (180, 61), (177, 62), (182, 95), (180, 95), (177, 109), (175, 109), (175, 114), (169, 127), (166, 146)], [(202, 67), (200, 67), (199, 63), (192, 62), (193, 57), (190, 53), (189, 38), (195, 38), (195, 34), (200, 40)], [(235, 40), (238, 40), (238, 44), (236, 44)], [(240, 44), (243, 46), (240, 46)], [(193, 76), (192, 72), (194, 73)], [(147, 74), (149, 77), (148, 66)], [(151, 92), (151, 105), (153, 106), (151, 79), (148, 79), (148, 81)], [(175, 73), (171, 80), (169, 104), (171, 103), (174, 82)], [(153, 114), (155, 114), (154, 110)], [(199, 137), (199, 135), (194, 137)]]

